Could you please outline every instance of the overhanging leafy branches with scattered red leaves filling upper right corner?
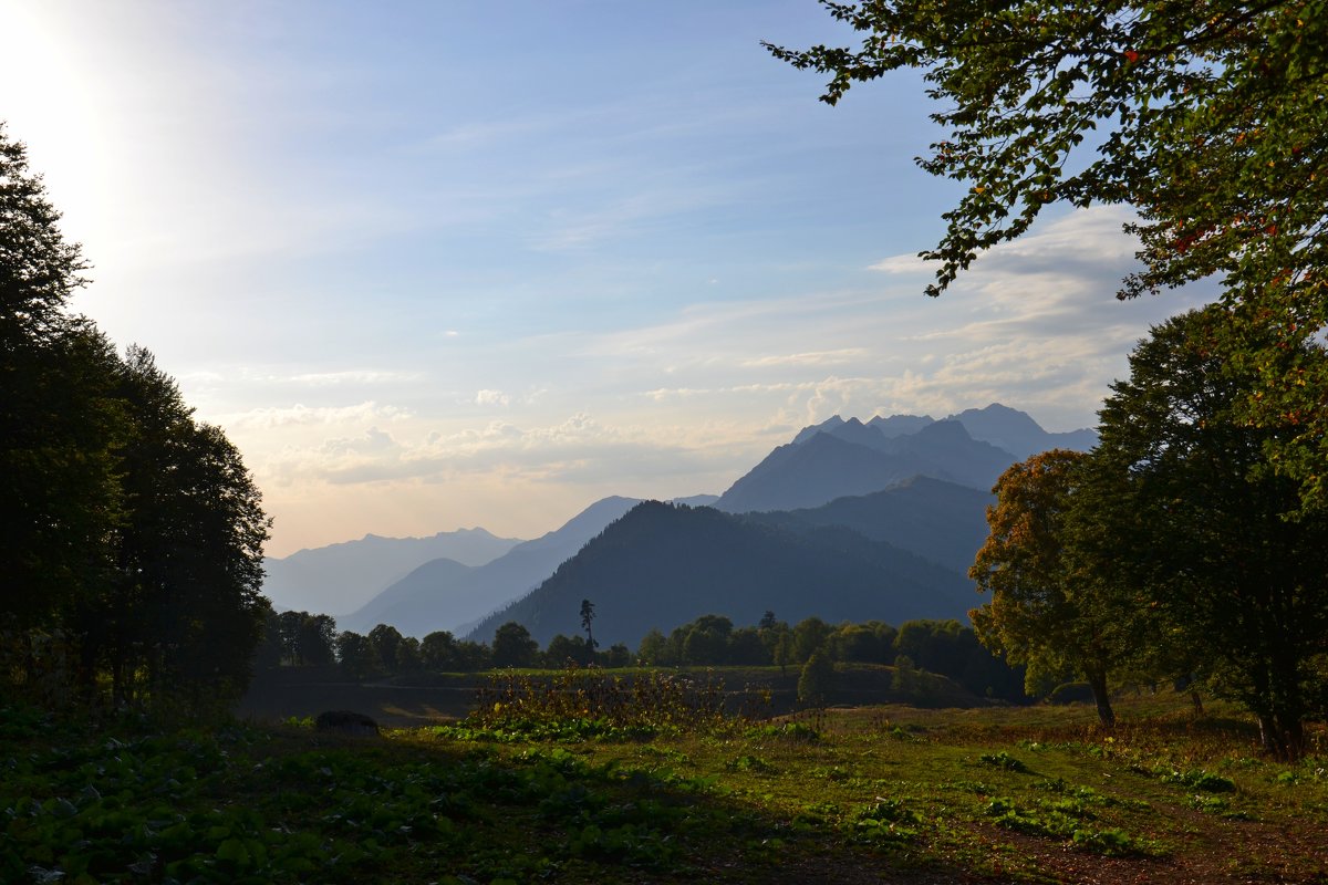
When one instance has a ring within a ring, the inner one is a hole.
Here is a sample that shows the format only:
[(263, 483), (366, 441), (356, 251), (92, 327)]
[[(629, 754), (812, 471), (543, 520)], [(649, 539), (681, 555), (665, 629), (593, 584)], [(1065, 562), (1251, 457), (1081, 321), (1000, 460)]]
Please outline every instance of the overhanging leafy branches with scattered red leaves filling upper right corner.
[(829, 74), (831, 105), (854, 84), (920, 69), (950, 130), (918, 161), (968, 186), (922, 253), (940, 263), (927, 292), (1050, 203), (1134, 207), (1143, 267), (1120, 295), (1219, 277), (1239, 305), (1232, 358), (1258, 369), (1234, 409), (1282, 429), (1275, 470), (1296, 480), (1301, 508), (1328, 508), (1328, 368), (1282, 358), (1328, 324), (1321, 5), (822, 3), (858, 46), (770, 52)]

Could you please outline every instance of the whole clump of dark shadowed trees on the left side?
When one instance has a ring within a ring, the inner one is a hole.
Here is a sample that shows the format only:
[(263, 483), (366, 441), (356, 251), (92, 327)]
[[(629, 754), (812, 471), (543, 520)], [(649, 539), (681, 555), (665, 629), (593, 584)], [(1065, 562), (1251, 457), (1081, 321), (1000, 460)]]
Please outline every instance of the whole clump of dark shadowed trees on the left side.
[(226, 707), (268, 610), (268, 520), (153, 356), (68, 312), (80, 248), (0, 123), (0, 701)]

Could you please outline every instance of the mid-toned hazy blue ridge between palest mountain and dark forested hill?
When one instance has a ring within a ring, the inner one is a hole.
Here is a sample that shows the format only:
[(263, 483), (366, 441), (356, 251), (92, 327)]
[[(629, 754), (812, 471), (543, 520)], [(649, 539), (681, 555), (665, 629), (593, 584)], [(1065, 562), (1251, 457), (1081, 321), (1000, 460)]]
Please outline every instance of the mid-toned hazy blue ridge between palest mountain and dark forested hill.
[(416, 637), (434, 630), (459, 632), (530, 592), (552, 575), (559, 563), (639, 503), (633, 498), (616, 496), (595, 502), (562, 528), (517, 544), (478, 568), (449, 559), (425, 563), (359, 610), (337, 618), (337, 626), (368, 633), (378, 624), (390, 624), (405, 636)]

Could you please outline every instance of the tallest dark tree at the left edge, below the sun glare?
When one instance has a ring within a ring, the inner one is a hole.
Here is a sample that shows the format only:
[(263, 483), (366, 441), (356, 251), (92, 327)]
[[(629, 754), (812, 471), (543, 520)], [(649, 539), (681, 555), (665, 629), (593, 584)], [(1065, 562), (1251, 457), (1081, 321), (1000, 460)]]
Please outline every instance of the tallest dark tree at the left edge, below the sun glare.
[(12, 588), (0, 621), (15, 630), (66, 626), (81, 597), (105, 592), (124, 508), (118, 360), (64, 312), (88, 264), (58, 222), (0, 123), (0, 561)]

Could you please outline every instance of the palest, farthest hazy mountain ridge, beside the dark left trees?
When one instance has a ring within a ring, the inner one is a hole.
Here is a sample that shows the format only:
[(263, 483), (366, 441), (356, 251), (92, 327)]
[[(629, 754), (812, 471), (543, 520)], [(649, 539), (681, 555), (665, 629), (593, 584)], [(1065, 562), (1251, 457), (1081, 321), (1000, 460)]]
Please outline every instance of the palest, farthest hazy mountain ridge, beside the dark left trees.
[(264, 559), (263, 594), (279, 609), (341, 614), (360, 608), (429, 560), (448, 557), (483, 565), (521, 543), (518, 537), (495, 537), (482, 528), (438, 532), (433, 537), (365, 535), (357, 541)]

